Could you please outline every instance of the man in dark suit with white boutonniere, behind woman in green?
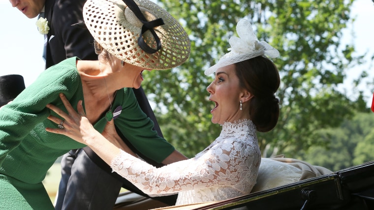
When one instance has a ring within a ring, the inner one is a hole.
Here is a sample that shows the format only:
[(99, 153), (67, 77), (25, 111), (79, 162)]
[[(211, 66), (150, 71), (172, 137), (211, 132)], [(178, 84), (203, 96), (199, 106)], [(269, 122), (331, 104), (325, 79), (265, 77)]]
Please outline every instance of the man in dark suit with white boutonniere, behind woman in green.
[[(13, 7), (17, 7), (28, 18), (35, 18), (44, 12), (49, 26), (48, 33), (45, 35), (43, 56), (46, 68), (72, 56), (83, 60), (97, 60), (93, 46), (94, 39), (90, 32), (80, 27), (71, 26), (83, 21), (82, 8), (86, 0), (9, 1)], [(154, 121), (154, 129), (162, 136), (143, 89), (140, 87), (133, 90), (142, 110)], [(125, 138), (124, 141), (126, 141)], [(126, 143), (128, 144), (128, 142)], [(129, 146), (131, 147), (131, 145)], [(152, 160), (149, 162), (156, 165)], [(110, 167), (103, 163), (88, 147), (83, 150), (70, 151), (63, 156), (61, 165), (62, 179), (55, 203), (57, 210), (112, 209), (122, 186), (130, 191), (145, 195), (127, 180), (111, 173)], [(85, 175), (82, 177), (82, 174)], [(156, 199), (173, 205), (176, 196)]]

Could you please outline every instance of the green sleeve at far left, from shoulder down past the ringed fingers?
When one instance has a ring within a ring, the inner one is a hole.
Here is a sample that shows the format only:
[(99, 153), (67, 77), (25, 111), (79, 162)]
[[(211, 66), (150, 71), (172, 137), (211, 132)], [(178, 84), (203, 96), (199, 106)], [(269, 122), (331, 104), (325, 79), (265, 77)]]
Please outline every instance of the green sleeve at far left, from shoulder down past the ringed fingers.
[(71, 65), (60, 65), (60, 68), (54, 66), (45, 70), (10, 104), (0, 109), (0, 166), (6, 155), (18, 147), (35, 127), (39, 130), (35, 129), (33, 132), (46, 133), (45, 127), (38, 124), (44, 120), (49, 122), (47, 117), (50, 110), (45, 107), (48, 103), (60, 104), (61, 107), (59, 93), (66, 94), (68, 98), (75, 94), (80, 79), (74, 69), (75, 58), (70, 60), (72, 59), (73, 61), (65, 62)]

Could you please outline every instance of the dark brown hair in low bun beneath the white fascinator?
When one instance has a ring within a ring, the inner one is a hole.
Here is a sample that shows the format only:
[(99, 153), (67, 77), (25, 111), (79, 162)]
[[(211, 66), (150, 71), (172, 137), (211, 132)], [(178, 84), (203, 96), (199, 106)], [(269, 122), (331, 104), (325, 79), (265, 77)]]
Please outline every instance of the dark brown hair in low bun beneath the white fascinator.
[(275, 92), (280, 86), (280, 77), (274, 63), (264, 56), (257, 56), (235, 63), (239, 85), (253, 97), (249, 100), (249, 115), (257, 131), (271, 131), (278, 122), (279, 100)]

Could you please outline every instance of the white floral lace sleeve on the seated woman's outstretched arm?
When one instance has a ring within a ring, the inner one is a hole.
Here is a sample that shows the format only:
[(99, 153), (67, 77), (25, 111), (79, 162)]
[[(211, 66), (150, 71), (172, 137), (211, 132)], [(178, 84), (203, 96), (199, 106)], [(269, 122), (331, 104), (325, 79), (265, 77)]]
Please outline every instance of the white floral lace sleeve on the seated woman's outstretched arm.
[[(165, 195), (213, 186), (250, 191), (257, 177), (260, 154), (248, 142), (225, 141), (196, 157), (156, 168), (123, 151), (111, 162), (113, 171), (149, 195)], [(252, 179), (253, 178), (253, 179)], [(247, 181), (250, 180), (251, 183)]]

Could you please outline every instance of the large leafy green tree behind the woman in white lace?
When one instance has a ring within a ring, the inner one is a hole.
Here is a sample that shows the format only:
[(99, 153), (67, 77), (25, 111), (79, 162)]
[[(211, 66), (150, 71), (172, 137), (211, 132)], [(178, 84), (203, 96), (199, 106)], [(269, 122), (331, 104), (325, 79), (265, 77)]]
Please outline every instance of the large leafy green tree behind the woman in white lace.
[[(211, 123), (204, 70), (227, 52), (240, 19), (249, 19), (259, 40), (280, 51), (279, 123), (259, 133), (263, 156), (293, 154), (311, 145), (325, 145), (322, 128), (337, 127), (352, 116), (355, 104), (338, 91), (345, 70), (362, 57), (353, 46), (340, 46), (353, 0), (159, 0), (185, 27), (191, 54), (172, 70), (145, 74), (143, 87), (165, 138), (192, 157), (212, 142), (220, 126)], [(239, 105), (239, 103), (238, 103)], [(361, 107), (362, 108), (362, 107)]]

